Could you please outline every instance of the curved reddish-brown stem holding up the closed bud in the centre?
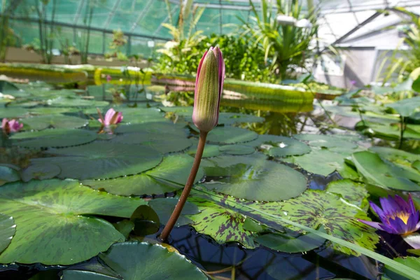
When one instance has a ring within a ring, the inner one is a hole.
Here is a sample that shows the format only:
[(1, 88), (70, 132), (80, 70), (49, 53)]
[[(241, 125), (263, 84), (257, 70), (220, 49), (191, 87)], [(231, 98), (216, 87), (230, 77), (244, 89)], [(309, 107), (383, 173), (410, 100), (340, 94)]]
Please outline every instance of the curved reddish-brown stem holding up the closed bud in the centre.
[(193, 167), (191, 167), (190, 176), (188, 176), (186, 186), (181, 193), (181, 197), (179, 197), (178, 203), (176, 204), (174, 212), (172, 212), (171, 218), (169, 218), (169, 221), (160, 234), (159, 238), (161, 241), (167, 240), (169, 233), (171, 233), (172, 228), (174, 228), (176, 220), (178, 220), (179, 216), (181, 215), (183, 206), (187, 202), (188, 195), (190, 195), (191, 188), (193, 188), (195, 176), (197, 176), (198, 167), (200, 167), (204, 146), (206, 145), (207, 133), (209, 132), (200, 131), (200, 140), (198, 141), (197, 152), (195, 153), (194, 163)]

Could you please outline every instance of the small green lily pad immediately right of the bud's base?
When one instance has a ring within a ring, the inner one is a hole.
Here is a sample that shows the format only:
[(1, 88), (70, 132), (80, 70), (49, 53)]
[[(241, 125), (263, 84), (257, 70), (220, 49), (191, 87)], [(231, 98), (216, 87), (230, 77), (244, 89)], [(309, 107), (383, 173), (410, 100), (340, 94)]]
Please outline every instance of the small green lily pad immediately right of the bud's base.
[(258, 134), (239, 127), (215, 127), (207, 136), (209, 143), (237, 144), (252, 141)]

